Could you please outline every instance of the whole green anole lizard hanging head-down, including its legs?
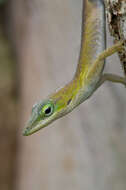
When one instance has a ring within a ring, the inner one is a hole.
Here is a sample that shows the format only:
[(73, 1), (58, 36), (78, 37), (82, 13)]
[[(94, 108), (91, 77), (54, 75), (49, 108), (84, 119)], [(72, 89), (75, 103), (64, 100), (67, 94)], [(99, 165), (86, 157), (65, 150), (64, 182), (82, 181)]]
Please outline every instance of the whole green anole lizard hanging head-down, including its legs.
[(105, 10), (102, 0), (84, 0), (82, 26), (80, 57), (73, 79), (33, 106), (30, 120), (23, 131), (24, 136), (71, 112), (105, 81), (126, 85), (123, 77), (103, 74), (104, 59), (121, 50), (123, 43), (118, 42), (105, 50)]

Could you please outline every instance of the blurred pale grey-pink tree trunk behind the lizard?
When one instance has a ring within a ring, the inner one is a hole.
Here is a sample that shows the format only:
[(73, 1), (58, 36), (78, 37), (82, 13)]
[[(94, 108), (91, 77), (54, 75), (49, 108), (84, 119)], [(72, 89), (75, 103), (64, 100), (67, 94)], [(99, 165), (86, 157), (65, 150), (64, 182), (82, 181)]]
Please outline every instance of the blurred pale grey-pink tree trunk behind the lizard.
[[(81, 12), (82, 0), (12, 1), (21, 83), (16, 190), (126, 190), (123, 86), (104, 84), (50, 127), (30, 137), (21, 134), (35, 101), (73, 76)], [(110, 37), (108, 41), (111, 46)], [(107, 70), (121, 72), (117, 56), (107, 61)]]

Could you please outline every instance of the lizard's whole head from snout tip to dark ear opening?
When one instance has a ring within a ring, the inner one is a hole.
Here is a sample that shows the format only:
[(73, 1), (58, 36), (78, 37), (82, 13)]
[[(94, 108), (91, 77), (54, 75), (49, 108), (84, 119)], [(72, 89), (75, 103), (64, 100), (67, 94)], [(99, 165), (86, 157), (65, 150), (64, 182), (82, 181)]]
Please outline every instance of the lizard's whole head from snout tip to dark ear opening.
[(33, 106), (30, 119), (23, 130), (24, 136), (37, 132), (54, 120), (72, 111), (72, 93), (68, 93), (68, 89), (68, 87), (62, 88), (45, 101), (41, 101)]

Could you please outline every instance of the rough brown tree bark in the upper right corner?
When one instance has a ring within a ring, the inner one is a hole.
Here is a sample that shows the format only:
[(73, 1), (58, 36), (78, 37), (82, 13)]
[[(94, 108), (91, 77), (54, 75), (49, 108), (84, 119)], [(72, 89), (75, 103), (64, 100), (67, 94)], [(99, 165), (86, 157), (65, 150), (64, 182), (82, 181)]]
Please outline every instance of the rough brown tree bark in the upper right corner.
[(106, 0), (106, 10), (109, 30), (115, 42), (124, 41), (124, 48), (119, 56), (126, 75), (126, 0)]

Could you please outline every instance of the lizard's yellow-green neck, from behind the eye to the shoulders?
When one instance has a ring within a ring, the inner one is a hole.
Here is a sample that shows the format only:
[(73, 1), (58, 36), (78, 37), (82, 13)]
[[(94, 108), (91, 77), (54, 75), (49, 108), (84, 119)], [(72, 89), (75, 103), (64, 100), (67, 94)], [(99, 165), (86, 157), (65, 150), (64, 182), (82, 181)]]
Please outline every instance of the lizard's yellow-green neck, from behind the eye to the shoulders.
[(71, 112), (80, 103), (86, 100), (95, 90), (95, 85), (90, 84), (88, 80), (78, 80), (74, 78), (63, 88), (55, 92), (49, 97), (56, 105), (56, 109), (60, 113), (59, 116), (66, 115)]

